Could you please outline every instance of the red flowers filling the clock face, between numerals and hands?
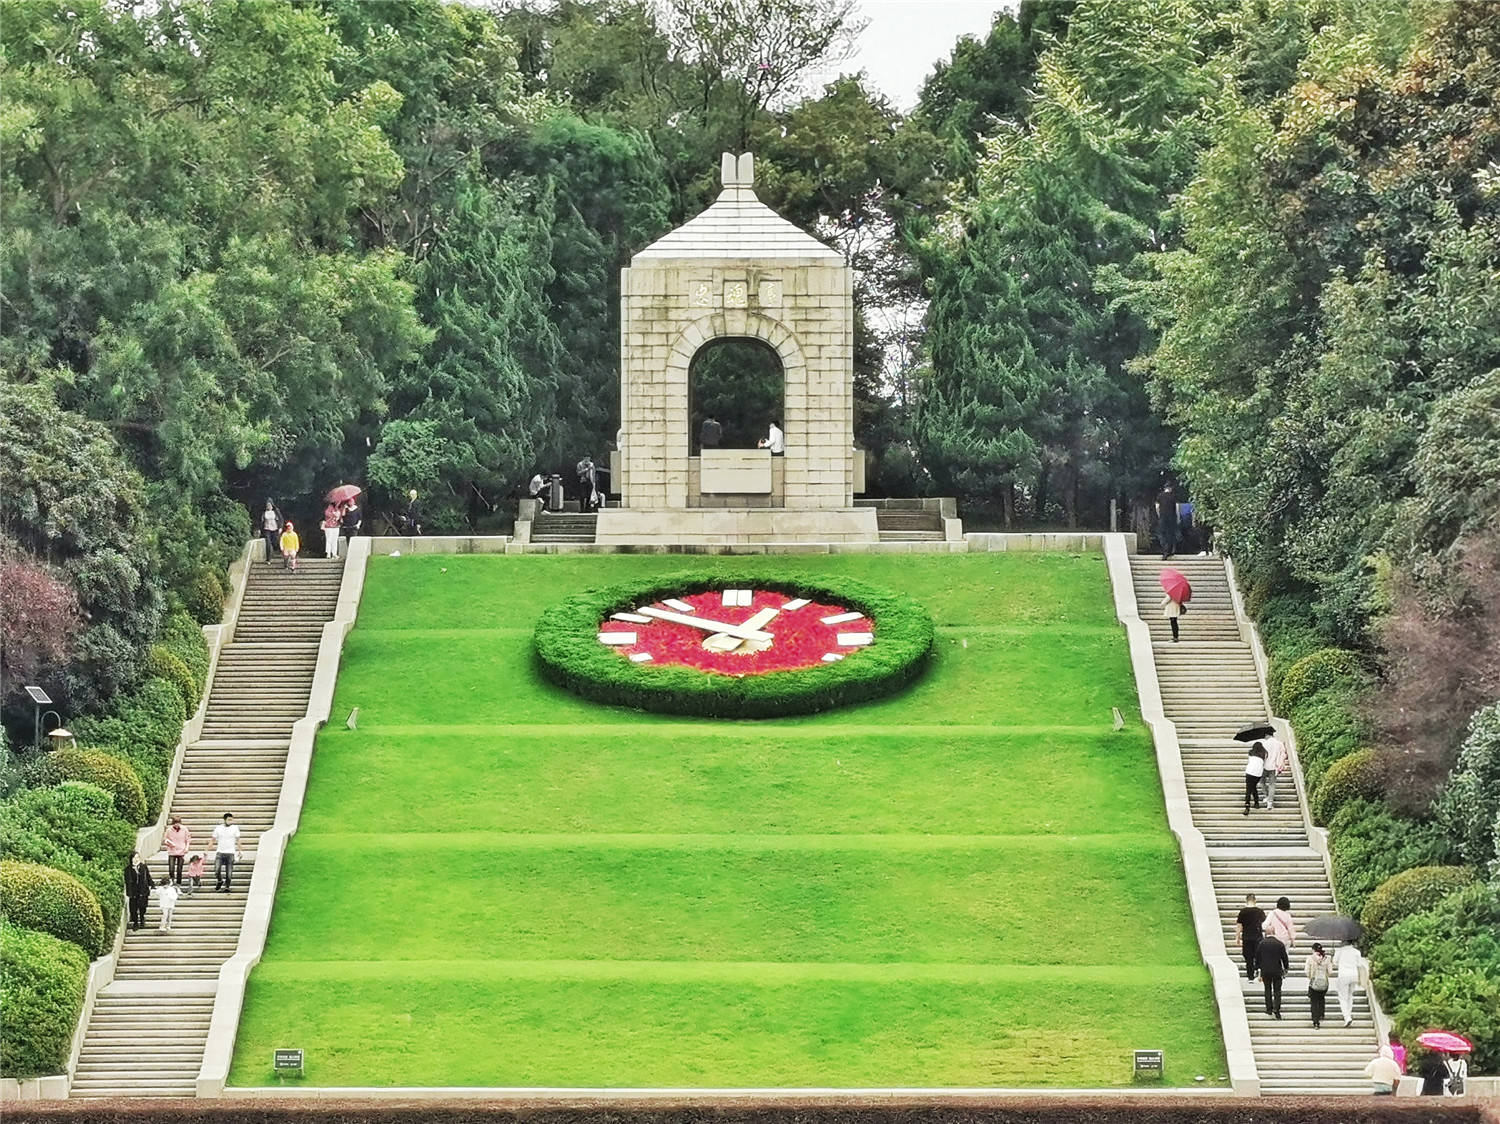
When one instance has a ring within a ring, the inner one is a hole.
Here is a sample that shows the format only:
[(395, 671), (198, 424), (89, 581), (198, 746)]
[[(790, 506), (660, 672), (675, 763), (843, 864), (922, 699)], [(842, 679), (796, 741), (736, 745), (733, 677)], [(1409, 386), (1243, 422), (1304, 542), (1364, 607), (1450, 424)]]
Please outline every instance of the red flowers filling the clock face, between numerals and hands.
[[(784, 593), (756, 590), (750, 605), (729, 606), (723, 603), (720, 590), (693, 593), (678, 600), (693, 606), (692, 617), (717, 621), (720, 624), (744, 624), (762, 609), (782, 609), (788, 602), (795, 600)], [(650, 606), (672, 611), (669, 605), (660, 602)], [(848, 656), (858, 651), (854, 647), (840, 647), (840, 632), (874, 632), (874, 621), (866, 615), (856, 620), (840, 621), (838, 624), (824, 624), (824, 617), (836, 617), (852, 609), (842, 605), (825, 605), (808, 602), (800, 609), (783, 609), (770, 621), (760, 626), (762, 632), (770, 632), (771, 645), (760, 651), (714, 651), (705, 648), (712, 633), (694, 629), (690, 624), (676, 621), (652, 620), (650, 624), (636, 621), (604, 620), (600, 632), (634, 632), (636, 642), (620, 645), (620, 657), (628, 659), (634, 653), (646, 653), (651, 660), (645, 666), (684, 666), (720, 675), (760, 675), (768, 671), (800, 671), (816, 668), (824, 662), (824, 656), (836, 653)]]

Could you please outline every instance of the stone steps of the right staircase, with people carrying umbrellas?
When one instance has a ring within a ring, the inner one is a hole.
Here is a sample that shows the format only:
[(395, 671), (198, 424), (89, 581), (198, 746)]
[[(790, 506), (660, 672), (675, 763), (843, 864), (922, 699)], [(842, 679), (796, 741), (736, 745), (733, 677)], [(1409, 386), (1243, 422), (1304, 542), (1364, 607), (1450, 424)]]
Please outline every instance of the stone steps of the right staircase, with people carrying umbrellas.
[[(1170, 566), (1192, 584), (1188, 612), (1172, 641), (1161, 615), (1161, 570)], [(1250, 644), (1240, 636), (1224, 563), (1218, 558), (1131, 558), (1136, 603), (1152, 639), (1161, 702), (1176, 725), (1192, 824), (1203, 833), (1214, 894), (1224, 926), (1224, 947), (1239, 960), (1234, 915), (1245, 894), (1268, 909), (1282, 894), (1304, 923), (1334, 912), (1334, 890), (1323, 858), (1310, 846), (1302, 818), (1300, 777), (1282, 777), (1275, 810), (1244, 815), (1245, 746), (1234, 731), (1263, 720), (1269, 710)], [(1258, 981), (1242, 980), (1251, 1046), (1264, 1094), (1368, 1095), (1365, 1062), (1376, 1052), (1376, 1026), (1364, 990), (1356, 992), (1354, 1023), (1344, 1028), (1329, 992), (1323, 1026), (1312, 1029), (1302, 959), (1312, 941), (1292, 948), (1293, 972), (1282, 987), (1282, 1017), (1264, 1013)], [(1323, 941), (1332, 951), (1334, 941)]]

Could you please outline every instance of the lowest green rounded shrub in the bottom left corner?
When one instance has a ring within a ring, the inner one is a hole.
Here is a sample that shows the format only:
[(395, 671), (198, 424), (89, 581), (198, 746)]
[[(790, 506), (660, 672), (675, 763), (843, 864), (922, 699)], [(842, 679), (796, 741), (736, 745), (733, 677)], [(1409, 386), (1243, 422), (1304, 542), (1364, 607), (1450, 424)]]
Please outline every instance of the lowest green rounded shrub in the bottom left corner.
[(0, 921), (0, 1073), (44, 1077), (68, 1068), (87, 980), (78, 945)]

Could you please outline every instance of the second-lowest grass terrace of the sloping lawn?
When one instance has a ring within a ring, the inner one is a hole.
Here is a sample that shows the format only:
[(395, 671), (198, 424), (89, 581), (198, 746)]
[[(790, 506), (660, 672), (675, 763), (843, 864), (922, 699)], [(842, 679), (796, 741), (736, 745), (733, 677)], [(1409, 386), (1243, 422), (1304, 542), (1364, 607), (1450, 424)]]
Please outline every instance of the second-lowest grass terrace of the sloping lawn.
[[(770, 842), (776, 842), (770, 839)], [(1197, 963), (1166, 837), (944, 849), (422, 846), (309, 837), (267, 957)], [(1042, 908), (1042, 906), (1047, 908)], [(296, 918), (296, 924), (284, 923)]]

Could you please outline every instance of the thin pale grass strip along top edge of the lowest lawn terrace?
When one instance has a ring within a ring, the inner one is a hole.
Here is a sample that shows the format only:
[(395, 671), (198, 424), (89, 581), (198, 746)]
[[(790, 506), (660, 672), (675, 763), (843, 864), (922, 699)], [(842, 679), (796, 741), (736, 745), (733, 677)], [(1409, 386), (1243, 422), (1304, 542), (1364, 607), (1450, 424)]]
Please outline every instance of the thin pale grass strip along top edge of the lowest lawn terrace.
[[(1173, 963), (1149, 966), (1160, 983), (1196, 987), (1203, 972)], [(717, 980), (756, 987), (820, 980), (872, 983), (1083, 983), (1125, 986), (1138, 981), (1136, 969), (1114, 963), (862, 963), (849, 960), (291, 960), (256, 972), (267, 983), (324, 980), (662, 980), (687, 983)]]

